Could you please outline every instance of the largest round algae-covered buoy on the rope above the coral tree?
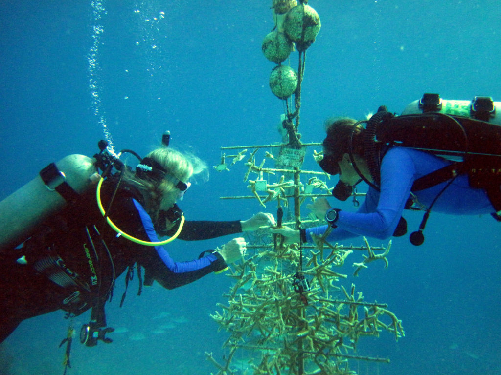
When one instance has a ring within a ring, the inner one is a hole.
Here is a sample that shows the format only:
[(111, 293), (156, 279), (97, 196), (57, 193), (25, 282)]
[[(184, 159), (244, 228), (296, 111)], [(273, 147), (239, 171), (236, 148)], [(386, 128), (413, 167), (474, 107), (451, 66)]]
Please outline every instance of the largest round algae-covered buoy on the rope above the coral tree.
[(306, 50), (320, 31), (320, 17), (309, 5), (300, 4), (289, 10), (285, 16), (284, 29), (300, 51)]

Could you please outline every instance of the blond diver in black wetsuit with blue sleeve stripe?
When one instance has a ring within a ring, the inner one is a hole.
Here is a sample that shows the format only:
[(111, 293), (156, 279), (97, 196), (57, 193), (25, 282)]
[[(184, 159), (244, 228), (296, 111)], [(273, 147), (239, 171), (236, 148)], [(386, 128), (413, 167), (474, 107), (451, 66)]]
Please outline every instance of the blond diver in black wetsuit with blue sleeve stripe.
[(125, 270), (130, 272), (137, 264), (140, 277), (144, 267), (145, 285), (156, 280), (171, 289), (221, 271), (227, 263), (239, 259), (245, 253), (243, 238), (234, 238), (220, 249), (206, 250), (198, 259), (182, 262), (174, 261), (161, 245), (138, 243), (157, 242), (156, 233), (171, 235), (180, 225), (178, 238), (194, 240), (274, 224), (273, 215), (260, 212), (244, 221), (182, 224), (181, 218), (170, 227), (173, 219), (166, 212), (172, 211), (189, 187), (187, 181), (200, 171), (200, 163), (197, 158), (162, 147), (142, 159), (135, 174), (126, 170), (117, 190), (118, 176), (104, 180), (100, 196), (106, 215), (137, 241), (118, 235), (105, 223), (96, 189), (91, 189), (46, 220), (22, 246), (0, 253), (0, 342), (24, 319), (60, 308), (76, 316), (91, 307), (92, 324), (87, 333), (95, 334), (93, 344), (97, 339), (110, 342), (104, 334), (112, 328), (103, 329), (104, 303), (116, 278)]

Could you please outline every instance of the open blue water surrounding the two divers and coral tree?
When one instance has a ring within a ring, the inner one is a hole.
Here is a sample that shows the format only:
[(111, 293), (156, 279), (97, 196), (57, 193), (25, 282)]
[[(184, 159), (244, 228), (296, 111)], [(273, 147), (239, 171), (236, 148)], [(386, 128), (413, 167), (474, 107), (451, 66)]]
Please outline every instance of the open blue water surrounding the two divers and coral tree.
[[(49, 162), (96, 152), (104, 135), (94, 114), (88, 56), (98, 24), (104, 32), (97, 36), (93, 74), (100, 113), (117, 150), (145, 154), (169, 129), (173, 146), (212, 166), (222, 145), (278, 141), (283, 103), (268, 87), (274, 65), (261, 52), (273, 28), (270, 2), (105, 1), (107, 12), (96, 20), (90, 1), (2, 1), (0, 198)], [(501, 7), (495, 1), (311, 0), (310, 5), (320, 14), (322, 29), (307, 51), (304, 141), (321, 141), (329, 116), (363, 118), (381, 104), (400, 112), (424, 92), (501, 100)], [(291, 57), (293, 67), (297, 56)], [(318, 169), (310, 154), (305, 168)], [(248, 194), (242, 162), (230, 172), (210, 169), (210, 179), (193, 184), (181, 204), (187, 218), (239, 219), (262, 209), (256, 200), (219, 199)], [(274, 212), (276, 205), (267, 209)], [(415, 230), (421, 214), (405, 217)], [(356, 283), (365, 300), (388, 303), (406, 334), (398, 342), (386, 332), (362, 338), (360, 355), (389, 357), (391, 363), (362, 362), (354, 369), (501, 374), (499, 225), (488, 216), (432, 213), (422, 246), (410, 245), (406, 236), (394, 239), (387, 269), (375, 262), (346, 280), (347, 287)], [(191, 259), (230, 238), (174, 241), (169, 251), (178, 260)], [(351, 263), (361, 259), (355, 253), (340, 271), (351, 274)], [(203, 352), (222, 356), (227, 334), (217, 332), (209, 314), (224, 302), (229, 278), (211, 274), (175, 290), (155, 285), (141, 296), (135, 295), (136, 278), (119, 308), (124, 283), (122, 276), (107, 305), (108, 324), (121, 333), (94, 348), (75, 339), (70, 374), (215, 372)], [(88, 319), (89, 313), (83, 314), (74, 324), (78, 329)], [(23, 322), (2, 346), (0, 373), (62, 373), (64, 348), (58, 344), (67, 326), (61, 311)], [(236, 359), (245, 366), (247, 358)]]

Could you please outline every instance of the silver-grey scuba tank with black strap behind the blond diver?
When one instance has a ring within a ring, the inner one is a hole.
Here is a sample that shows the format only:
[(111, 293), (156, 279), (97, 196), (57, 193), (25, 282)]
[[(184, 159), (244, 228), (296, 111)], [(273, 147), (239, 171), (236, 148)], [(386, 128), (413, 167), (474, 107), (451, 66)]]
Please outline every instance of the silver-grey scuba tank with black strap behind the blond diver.
[(95, 161), (85, 155), (65, 156), (2, 200), (0, 251), (19, 245), (37, 225), (94, 185), (99, 180)]

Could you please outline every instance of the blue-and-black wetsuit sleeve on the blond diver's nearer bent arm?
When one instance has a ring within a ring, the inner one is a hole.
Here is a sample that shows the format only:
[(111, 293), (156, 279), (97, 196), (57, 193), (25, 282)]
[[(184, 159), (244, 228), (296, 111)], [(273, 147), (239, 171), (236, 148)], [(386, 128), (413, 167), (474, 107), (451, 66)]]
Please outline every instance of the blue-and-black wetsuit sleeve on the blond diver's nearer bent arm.
[[(146, 232), (148, 240), (158, 242), (151, 217), (146, 210), (133, 199), (134, 205), (141, 218), (142, 226)], [(148, 246), (150, 247), (150, 246)], [(174, 261), (163, 246), (153, 246), (158, 257), (144, 259), (141, 262), (148, 273), (152, 275), (162, 286), (172, 289), (192, 282), (212, 271), (218, 271), (226, 267), (226, 263), (220, 256), (209, 254), (190, 261)]]

